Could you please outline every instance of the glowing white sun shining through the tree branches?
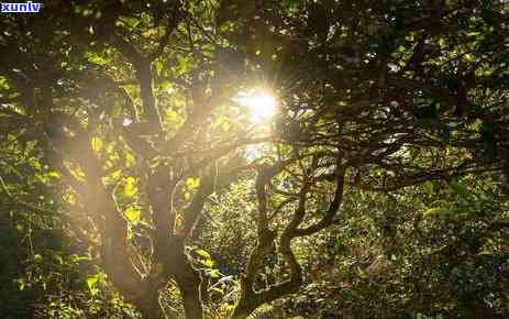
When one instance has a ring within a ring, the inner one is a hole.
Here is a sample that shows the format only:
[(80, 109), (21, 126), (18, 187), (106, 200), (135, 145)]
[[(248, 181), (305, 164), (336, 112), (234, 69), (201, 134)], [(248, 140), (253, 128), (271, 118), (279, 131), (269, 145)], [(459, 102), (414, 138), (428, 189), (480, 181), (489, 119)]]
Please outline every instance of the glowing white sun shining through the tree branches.
[(266, 91), (241, 92), (236, 100), (248, 108), (254, 122), (264, 122), (276, 113), (276, 99)]

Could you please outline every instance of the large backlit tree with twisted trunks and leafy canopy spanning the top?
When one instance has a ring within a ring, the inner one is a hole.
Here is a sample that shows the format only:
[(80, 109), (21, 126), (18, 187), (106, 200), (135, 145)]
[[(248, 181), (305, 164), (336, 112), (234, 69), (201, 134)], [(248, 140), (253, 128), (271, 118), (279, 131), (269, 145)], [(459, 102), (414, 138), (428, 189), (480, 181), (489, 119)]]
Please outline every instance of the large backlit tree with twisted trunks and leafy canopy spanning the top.
[[(299, 290), (291, 244), (338, 219), (345, 188), (507, 173), (507, 10), (52, 1), (1, 22), (2, 143), (44, 154), (69, 229), (145, 318), (166, 316), (169, 278), (186, 317), (203, 317), (206, 280), (186, 244), (214, 193), (254, 179), (257, 242), (231, 315), (246, 318)], [(270, 130), (234, 101), (255, 86), (279, 97)], [(274, 254), (286, 266), (264, 286)]]

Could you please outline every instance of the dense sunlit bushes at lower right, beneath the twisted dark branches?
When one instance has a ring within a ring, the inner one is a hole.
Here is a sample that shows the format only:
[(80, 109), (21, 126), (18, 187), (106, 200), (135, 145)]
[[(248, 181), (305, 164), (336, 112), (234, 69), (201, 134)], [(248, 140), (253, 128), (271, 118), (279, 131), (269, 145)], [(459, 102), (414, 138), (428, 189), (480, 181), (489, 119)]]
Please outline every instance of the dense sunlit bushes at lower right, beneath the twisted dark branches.
[[(464, 179), (467, 198), (446, 185), (435, 185), (440, 194), (354, 195), (319, 249), (306, 250), (313, 275), (302, 297), (283, 304), (286, 316), (506, 317), (507, 196), (489, 179)], [(430, 215), (438, 202), (442, 213)]]

